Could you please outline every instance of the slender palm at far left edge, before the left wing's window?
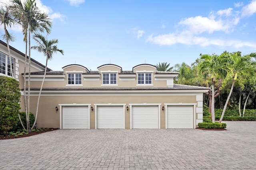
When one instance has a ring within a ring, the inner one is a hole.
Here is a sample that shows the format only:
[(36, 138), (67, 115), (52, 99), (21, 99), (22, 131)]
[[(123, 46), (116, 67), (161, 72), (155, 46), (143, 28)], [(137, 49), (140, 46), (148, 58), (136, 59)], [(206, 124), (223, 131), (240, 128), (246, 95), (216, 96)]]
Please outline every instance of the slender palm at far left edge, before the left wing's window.
[[(5, 4), (5, 6), (1, 6), (0, 8), (0, 23), (1, 25), (4, 25), (4, 39), (6, 40), (7, 43), (7, 49), (8, 49), (8, 55), (9, 55), (9, 61), (10, 61), (10, 72), (11, 72), (11, 77), (14, 78), (13, 70), (12, 70), (12, 59), (11, 59), (11, 52), (10, 52), (10, 46), (9, 46), (9, 40), (13, 41), (14, 37), (10, 35), (8, 32), (6, 26), (11, 27), (12, 24), (14, 23), (14, 20), (12, 18), (12, 15), (10, 14), (10, 6)], [(8, 62), (7, 62), (8, 66)]]

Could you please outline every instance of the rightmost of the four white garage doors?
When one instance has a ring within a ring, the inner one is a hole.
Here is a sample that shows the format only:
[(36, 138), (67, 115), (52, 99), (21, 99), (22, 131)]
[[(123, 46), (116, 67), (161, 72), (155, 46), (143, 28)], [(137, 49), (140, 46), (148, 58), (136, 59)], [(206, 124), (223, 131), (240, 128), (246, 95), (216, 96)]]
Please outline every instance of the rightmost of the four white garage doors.
[(193, 128), (193, 106), (168, 106), (167, 128)]

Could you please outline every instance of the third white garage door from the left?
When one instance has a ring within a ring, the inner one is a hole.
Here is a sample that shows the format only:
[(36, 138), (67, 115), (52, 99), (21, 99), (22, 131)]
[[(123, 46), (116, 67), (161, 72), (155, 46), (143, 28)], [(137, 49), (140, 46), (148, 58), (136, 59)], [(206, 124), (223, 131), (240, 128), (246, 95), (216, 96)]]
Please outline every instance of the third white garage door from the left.
[(158, 129), (158, 106), (132, 106), (132, 128)]

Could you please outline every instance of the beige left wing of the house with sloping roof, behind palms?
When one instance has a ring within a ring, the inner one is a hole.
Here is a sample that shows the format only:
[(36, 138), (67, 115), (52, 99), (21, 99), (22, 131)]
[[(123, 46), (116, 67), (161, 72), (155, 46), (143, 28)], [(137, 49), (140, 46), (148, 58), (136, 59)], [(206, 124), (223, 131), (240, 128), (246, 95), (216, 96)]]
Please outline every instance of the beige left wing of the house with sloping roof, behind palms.
[[(24, 72), (25, 54), (18, 51), (17, 49), (10, 46), (11, 61), (12, 61), (12, 72), (14, 73), (14, 78), (20, 82), (20, 89), (24, 88), (24, 78), (22, 73)], [(28, 58), (28, 56), (27, 56)], [(27, 59), (28, 61), (28, 59)], [(31, 59), (31, 71), (44, 71), (45, 66), (34, 59)], [(26, 66), (28, 70), (28, 63)], [(51, 69), (47, 68), (48, 71)], [(8, 55), (7, 44), (0, 40), (0, 76), (11, 77), (10, 71), (10, 59)], [(24, 93), (22, 92), (22, 97), (20, 98), (21, 110), (24, 111)]]

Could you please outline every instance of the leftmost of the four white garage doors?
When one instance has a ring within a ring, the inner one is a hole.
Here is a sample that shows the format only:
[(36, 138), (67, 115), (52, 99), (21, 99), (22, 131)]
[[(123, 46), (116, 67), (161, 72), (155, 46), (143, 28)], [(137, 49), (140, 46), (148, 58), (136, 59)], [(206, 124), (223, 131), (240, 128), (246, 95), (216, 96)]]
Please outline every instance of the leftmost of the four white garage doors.
[(63, 129), (88, 129), (88, 106), (63, 106)]

